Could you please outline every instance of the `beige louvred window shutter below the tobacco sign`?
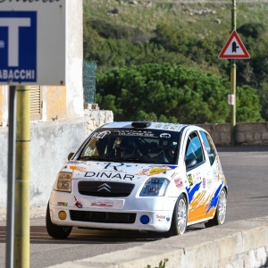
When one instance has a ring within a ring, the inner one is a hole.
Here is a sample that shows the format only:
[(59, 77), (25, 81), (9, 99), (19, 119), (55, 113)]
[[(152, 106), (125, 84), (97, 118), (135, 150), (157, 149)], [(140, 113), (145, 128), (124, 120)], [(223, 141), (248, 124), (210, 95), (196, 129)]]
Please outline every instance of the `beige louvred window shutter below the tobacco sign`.
[(30, 87), (30, 120), (42, 119), (42, 92), (40, 86)]

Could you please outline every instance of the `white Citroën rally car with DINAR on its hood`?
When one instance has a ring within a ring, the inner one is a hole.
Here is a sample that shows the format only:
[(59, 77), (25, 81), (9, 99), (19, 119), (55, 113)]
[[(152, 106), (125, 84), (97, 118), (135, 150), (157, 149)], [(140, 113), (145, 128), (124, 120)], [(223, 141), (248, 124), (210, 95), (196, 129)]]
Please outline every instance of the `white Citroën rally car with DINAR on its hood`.
[(112, 122), (68, 156), (54, 182), (46, 230), (72, 227), (183, 234), (225, 221), (227, 182), (210, 135), (193, 125)]

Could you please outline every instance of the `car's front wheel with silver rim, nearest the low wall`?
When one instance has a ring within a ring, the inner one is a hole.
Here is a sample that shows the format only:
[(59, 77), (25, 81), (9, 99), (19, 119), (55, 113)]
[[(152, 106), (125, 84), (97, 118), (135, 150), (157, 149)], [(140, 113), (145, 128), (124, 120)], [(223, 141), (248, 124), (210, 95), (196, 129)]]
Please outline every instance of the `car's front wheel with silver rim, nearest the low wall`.
[(187, 200), (186, 197), (183, 194), (181, 194), (180, 197), (178, 197), (173, 210), (171, 228), (170, 230), (164, 233), (164, 237), (169, 238), (172, 236), (178, 236), (185, 233), (187, 228), (187, 220), (188, 220)]

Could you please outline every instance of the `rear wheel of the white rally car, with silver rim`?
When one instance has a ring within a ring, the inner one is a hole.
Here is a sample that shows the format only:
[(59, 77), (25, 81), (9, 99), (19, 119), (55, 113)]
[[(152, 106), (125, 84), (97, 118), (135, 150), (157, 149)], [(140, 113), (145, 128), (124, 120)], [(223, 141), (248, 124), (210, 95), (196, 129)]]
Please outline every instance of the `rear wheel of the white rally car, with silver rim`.
[(214, 214), (214, 218), (209, 220), (208, 222), (205, 222), (206, 228), (217, 226), (217, 225), (222, 225), (225, 222), (226, 204), (227, 204), (226, 190), (225, 188), (222, 188), (220, 195), (219, 195), (219, 201), (218, 201), (216, 212)]

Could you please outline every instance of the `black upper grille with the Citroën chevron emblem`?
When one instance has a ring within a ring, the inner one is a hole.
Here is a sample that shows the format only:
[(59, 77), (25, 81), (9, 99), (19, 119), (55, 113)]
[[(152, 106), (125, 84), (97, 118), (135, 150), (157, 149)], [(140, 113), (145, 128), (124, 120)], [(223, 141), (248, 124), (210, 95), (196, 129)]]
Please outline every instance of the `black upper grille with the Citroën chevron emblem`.
[(78, 190), (83, 196), (128, 197), (135, 184), (111, 181), (80, 181)]

